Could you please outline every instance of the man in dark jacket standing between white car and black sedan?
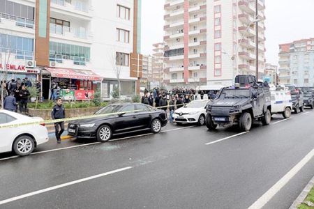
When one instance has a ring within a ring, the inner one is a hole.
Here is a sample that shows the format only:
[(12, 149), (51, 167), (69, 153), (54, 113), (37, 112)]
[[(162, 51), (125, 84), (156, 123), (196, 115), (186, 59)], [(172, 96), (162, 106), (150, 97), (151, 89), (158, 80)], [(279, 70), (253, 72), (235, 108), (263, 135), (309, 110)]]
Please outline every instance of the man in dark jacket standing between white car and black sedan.
[[(66, 118), (66, 111), (62, 105), (61, 98), (57, 98), (57, 104), (52, 108), (51, 117), (52, 120)], [(61, 134), (64, 131), (64, 121), (54, 123), (54, 129), (56, 130), (57, 144), (61, 144)]]

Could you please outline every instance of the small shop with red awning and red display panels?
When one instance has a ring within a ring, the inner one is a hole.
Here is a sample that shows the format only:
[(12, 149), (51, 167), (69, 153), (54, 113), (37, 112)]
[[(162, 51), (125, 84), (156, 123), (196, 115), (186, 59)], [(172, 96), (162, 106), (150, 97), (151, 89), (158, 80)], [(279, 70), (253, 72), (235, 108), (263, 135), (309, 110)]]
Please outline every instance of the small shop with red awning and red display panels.
[(44, 68), (41, 74), (45, 100), (91, 100), (103, 80), (91, 70)]

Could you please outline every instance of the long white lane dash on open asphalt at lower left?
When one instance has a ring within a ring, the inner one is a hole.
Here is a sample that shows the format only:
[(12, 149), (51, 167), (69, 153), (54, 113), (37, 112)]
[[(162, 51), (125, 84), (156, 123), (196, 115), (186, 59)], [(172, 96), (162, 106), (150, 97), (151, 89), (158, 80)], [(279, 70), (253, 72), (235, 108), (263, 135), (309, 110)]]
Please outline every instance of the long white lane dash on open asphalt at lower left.
[(54, 186), (54, 187), (48, 187), (46, 189), (40, 189), (38, 191), (35, 191), (35, 192), (29, 192), (27, 194), (22, 194), (20, 196), (15, 196), (15, 197), (12, 197), (10, 199), (5, 199), (3, 201), (0, 201), (0, 206), (5, 204), (5, 203), (10, 203), (10, 202), (13, 202), (13, 201), (17, 201), (19, 199), (24, 199), (24, 198), (27, 198), (29, 196), (34, 196), (36, 194), (41, 194), (41, 193), (44, 193), (44, 192), (49, 192), (49, 191), (52, 191), (52, 190), (55, 190), (55, 189), (60, 189), (62, 187), (68, 187), (70, 185), (75, 185), (77, 183), (82, 183), (84, 181), (87, 181), (87, 180), (92, 180), (94, 178), (100, 178), (100, 177), (103, 177), (103, 176), (108, 176), (110, 174), (113, 174), (113, 173), (118, 173), (118, 172), (121, 172), (121, 171), (126, 171), (128, 169), (132, 169), (133, 167), (125, 167), (125, 168), (122, 168), (122, 169), (117, 169), (117, 170), (114, 170), (114, 171), (109, 171), (109, 172), (106, 172), (106, 173), (100, 173), (96, 176), (90, 176), (90, 177), (87, 177), (87, 178), (81, 178), (79, 180), (73, 180), (73, 181), (70, 181), (68, 183), (63, 183), (61, 185), (57, 185), (57, 186)]

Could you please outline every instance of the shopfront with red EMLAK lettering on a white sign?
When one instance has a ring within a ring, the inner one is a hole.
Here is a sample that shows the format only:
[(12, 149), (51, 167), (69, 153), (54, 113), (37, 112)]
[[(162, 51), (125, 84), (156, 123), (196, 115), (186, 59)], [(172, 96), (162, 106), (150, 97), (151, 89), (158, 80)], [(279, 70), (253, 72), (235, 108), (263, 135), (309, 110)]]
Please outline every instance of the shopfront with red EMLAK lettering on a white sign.
[(7, 64), (6, 68), (0, 63), (0, 79), (10, 81), (11, 79), (20, 78), (21, 81), (27, 77), (33, 84), (39, 79), (39, 72), (37, 68), (26, 68), (25, 65)]

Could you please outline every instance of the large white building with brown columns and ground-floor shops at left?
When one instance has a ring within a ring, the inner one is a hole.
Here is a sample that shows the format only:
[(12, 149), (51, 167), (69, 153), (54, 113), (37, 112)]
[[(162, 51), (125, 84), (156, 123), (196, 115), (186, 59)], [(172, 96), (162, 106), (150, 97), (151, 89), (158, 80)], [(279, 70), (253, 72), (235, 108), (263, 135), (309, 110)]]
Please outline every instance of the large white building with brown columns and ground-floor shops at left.
[(140, 10), (141, 0), (0, 0), (10, 77), (39, 79), (45, 99), (53, 83), (110, 98), (119, 71), (122, 94), (133, 95), (142, 77)]

